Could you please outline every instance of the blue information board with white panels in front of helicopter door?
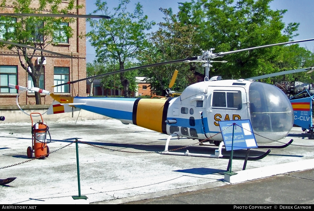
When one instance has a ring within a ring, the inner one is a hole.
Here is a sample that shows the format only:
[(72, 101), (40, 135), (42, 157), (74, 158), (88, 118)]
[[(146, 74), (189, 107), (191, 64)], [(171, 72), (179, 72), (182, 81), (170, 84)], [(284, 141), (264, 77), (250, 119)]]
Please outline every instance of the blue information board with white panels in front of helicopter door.
[[(234, 126), (233, 131), (233, 123)], [(233, 135), (233, 150), (257, 148), (255, 136), (249, 119), (219, 121), (219, 127), (227, 151), (231, 150)]]

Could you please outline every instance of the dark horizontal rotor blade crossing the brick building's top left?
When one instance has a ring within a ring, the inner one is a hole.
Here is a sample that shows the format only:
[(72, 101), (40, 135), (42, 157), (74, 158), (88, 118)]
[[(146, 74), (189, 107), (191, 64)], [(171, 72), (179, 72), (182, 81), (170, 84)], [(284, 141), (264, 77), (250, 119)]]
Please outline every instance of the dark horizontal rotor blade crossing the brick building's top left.
[(60, 17), (60, 18), (106, 18), (107, 15), (79, 15), (79, 14), (38, 14), (38, 13), (0, 13), (0, 16), (28, 16), (28, 17)]

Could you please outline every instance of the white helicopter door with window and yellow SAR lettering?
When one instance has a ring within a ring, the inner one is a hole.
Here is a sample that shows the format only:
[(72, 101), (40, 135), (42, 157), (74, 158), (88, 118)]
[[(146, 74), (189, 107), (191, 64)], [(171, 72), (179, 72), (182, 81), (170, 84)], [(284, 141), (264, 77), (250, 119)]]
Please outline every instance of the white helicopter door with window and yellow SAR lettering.
[(219, 121), (248, 119), (246, 106), (246, 90), (243, 87), (208, 87), (207, 91), (207, 120), (209, 136), (215, 141), (222, 141)]

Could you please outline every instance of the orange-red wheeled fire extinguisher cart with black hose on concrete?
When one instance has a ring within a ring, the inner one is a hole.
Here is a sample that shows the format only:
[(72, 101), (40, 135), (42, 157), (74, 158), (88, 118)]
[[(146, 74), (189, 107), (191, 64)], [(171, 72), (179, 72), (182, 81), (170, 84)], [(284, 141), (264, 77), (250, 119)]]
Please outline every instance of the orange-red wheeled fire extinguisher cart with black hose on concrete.
[[(33, 114), (39, 114), (41, 121), (34, 124)], [(44, 124), (44, 120), (40, 113), (30, 113), (30, 119), (32, 120), (32, 147), (29, 146), (27, 148), (27, 157), (32, 158), (34, 153), (35, 157), (46, 155), (42, 157), (45, 159), (45, 157), (49, 156), (49, 147), (47, 146), (47, 132), (50, 136), (49, 127)]]

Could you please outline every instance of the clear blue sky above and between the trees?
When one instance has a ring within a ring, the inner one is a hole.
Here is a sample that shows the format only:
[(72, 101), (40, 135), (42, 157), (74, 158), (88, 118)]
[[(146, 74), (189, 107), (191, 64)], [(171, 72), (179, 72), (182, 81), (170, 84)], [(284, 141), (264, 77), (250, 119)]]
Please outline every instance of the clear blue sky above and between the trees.
[[(86, 0), (86, 14), (92, 13), (95, 10), (96, 0)], [(134, 6), (135, 3), (140, 2), (143, 5), (144, 14), (148, 15), (149, 21), (155, 21), (156, 23), (163, 21), (163, 13), (159, 11), (159, 8), (172, 8), (173, 13), (178, 12), (178, 2), (186, 2), (180, 0), (130, 0), (129, 6)], [(189, 1), (187, 1), (189, 2)], [(236, 1), (235, 1), (236, 2)], [(118, 0), (108, 0), (108, 9), (116, 7)], [(306, 40), (314, 38), (314, 0), (274, 0), (270, 3), (270, 7), (273, 10), (287, 9), (284, 14), (283, 21), (288, 24), (290, 22), (300, 23), (298, 33), (299, 36), (294, 40)], [(130, 11), (133, 11), (130, 8)], [(88, 25), (88, 23), (87, 23)], [(158, 28), (155, 28), (156, 30)], [(89, 31), (89, 26), (86, 27)], [(314, 52), (314, 41), (300, 44), (301, 47), (306, 47), (308, 50)], [(215, 47), (215, 46), (213, 46)], [(87, 54), (95, 54), (95, 50), (90, 46), (89, 41), (86, 43)], [(87, 61), (90, 62), (90, 61)]]

